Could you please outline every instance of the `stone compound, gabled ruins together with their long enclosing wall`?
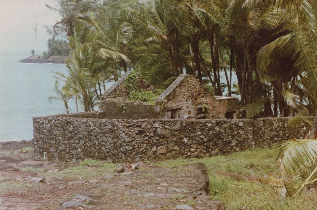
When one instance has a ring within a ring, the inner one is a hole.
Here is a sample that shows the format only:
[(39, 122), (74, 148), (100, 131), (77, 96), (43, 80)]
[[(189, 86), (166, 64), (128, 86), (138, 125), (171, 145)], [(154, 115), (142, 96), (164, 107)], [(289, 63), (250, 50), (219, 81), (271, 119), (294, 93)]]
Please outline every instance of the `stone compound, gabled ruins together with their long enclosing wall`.
[[(236, 119), (237, 98), (212, 96), (187, 74), (180, 75), (153, 106), (131, 101), (125, 85), (129, 74), (104, 93), (101, 111), (34, 117), (36, 155), (49, 160), (95, 158), (114, 163), (202, 158), (307, 134), (304, 125), (287, 130), (290, 118)], [(136, 80), (139, 91), (156, 91), (145, 79), (137, 76)]]

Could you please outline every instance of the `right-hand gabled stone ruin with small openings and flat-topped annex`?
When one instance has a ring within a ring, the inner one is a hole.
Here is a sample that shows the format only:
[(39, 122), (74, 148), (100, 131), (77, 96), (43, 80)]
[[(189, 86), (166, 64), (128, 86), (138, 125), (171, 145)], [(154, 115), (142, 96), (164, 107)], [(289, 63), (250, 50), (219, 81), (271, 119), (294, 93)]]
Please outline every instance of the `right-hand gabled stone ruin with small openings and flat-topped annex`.
[(164, 118), (234, 119), (239, 100), (235, 97), (213, 96), (193, 75), (181, 74), (158, 97), (157, 104), (166, 109)]

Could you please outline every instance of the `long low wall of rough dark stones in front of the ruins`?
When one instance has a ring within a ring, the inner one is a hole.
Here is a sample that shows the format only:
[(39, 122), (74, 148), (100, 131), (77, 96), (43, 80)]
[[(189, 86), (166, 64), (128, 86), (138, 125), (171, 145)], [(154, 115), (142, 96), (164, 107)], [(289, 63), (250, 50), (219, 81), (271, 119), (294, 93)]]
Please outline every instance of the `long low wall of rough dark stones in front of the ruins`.
[[(98, 158), (115, 163), (201, 158), (301, 139), (308, 132), (304, 125), (287, 131), (290, 118), (111, 120), (74, 116), (33, 118), (36, 155), (49, 160)], [(101, 117), (102, 113), (91, 116)]]

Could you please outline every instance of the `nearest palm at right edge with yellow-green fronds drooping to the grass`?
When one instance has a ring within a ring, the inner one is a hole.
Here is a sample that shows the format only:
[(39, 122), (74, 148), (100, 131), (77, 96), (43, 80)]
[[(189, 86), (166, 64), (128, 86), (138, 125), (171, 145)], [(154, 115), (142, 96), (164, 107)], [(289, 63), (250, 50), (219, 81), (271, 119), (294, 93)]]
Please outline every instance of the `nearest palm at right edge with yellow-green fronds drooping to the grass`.
[[(317, 102), (317, 13), (316, 4), (302, 0), (300, 13), (294, 19), (294, 31), (275, 41), (274, 47), (286, 46), (298, 55), (296, 66), (301, 70), (303, 84)], [(303, 14), (303, 15), (301, 15)], [(296, 195), (317, 181), (317, 110), (308, 139), (291, 139), (279, 144), (281, 173), (289, 195)]]

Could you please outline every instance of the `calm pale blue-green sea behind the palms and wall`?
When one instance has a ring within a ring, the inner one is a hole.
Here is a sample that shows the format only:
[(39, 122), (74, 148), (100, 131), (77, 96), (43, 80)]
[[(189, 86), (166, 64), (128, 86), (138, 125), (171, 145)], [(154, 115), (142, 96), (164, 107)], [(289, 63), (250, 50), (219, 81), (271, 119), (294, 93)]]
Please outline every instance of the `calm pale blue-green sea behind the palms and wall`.
[[(0, 52), (0, 142), (32, 139), (34, 116), (66, 113), (61, 101), (48, 100), (49, 96), (56, 96), (53, 91), (56, 79), (51, 72), (66, 73), (66, 66), (18, 62), (29, 56), (29, 51)], [(225, 83), (224, 73), (221, 74)], [(236, 82), (236, 75), (232, 76), (232, 83)], [(107, 88), (111, 85), (107, 83)], [(70, 101), (68, 106), (71, 112), (76, 112), (74, 101)], [(81, 107), (79, 109), (83, 111)]]

